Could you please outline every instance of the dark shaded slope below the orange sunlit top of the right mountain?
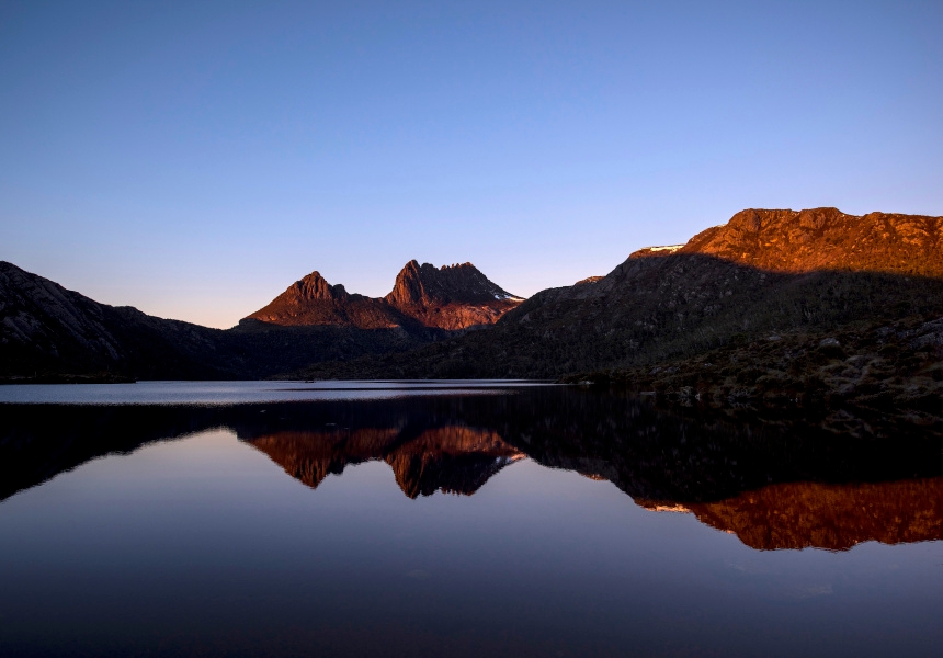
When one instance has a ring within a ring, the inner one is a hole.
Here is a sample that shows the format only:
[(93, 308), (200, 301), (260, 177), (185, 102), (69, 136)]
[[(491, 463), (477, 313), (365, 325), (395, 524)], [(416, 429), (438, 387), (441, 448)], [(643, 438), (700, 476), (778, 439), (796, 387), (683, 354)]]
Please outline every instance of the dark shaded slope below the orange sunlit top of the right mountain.
[[(305, 377), (559, 377), (715, 349), (738, 334), (827, 330), (943, 315), (943, 280), (893, 274), (766, 273), (712, 257), (632, 259), (610, 294), (538, 293), (487, 332), (345, 364)], [(613, 281), (614, 280), (614, 281)], [(600, 285), (599, 283), (592, 285)], [(581, 286), (589, 287), (589, 286)]]

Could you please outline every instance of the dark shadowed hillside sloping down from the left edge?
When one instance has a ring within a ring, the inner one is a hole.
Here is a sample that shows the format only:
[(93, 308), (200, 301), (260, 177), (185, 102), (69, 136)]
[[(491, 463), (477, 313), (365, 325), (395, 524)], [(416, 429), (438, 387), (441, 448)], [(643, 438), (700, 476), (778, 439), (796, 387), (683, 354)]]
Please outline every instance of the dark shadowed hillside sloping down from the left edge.
[(399, 332), (277, 329), (224, 331), (157, 318), (0, 262), (0, 377), (8, 381), (261, 378), (423, 344)]

